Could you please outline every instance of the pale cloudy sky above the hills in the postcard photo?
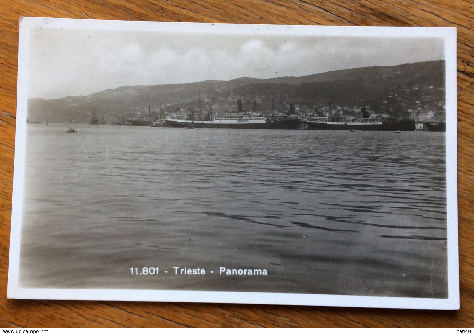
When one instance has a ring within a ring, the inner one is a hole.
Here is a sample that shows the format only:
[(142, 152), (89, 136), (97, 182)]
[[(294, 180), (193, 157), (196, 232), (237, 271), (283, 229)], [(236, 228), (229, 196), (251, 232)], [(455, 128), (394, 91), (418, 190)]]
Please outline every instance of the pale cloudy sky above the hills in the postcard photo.
[(432, 37), (211, 35), (34, 28), (28, 96), (89, 95), (104, 89), (303, 76), (330, 70), (444, 59)]

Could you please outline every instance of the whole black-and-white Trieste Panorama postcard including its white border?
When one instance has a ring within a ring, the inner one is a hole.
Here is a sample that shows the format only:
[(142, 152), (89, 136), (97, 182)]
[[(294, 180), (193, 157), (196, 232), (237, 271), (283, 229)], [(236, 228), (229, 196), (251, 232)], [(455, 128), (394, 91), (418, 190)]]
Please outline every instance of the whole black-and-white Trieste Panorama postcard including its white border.
[(8, 297), (459, 308), (456, 29), (21, 18)]

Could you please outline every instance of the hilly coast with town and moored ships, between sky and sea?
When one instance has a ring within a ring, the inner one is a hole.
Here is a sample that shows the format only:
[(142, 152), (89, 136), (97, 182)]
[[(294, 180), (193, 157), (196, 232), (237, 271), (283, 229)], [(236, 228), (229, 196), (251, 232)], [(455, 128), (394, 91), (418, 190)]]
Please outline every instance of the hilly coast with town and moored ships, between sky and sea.
[(252, 123), (249, 128), (334, 130), (339, 124), (347, 130), (444, 131), (443, 66), (444, 61), (420, 62), (303, 77), (126, 86), (85, 97), (32, 98), (28, 116), (35, 122), (93, 125)]

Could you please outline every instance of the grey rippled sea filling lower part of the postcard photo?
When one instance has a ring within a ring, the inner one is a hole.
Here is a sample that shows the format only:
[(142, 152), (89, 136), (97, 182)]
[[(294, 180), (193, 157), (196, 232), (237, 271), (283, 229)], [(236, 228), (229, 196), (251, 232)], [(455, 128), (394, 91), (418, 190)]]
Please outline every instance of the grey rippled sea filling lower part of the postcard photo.
[(447, 297), (445, 133), (69, 126), (27, 126), (23, 287)]

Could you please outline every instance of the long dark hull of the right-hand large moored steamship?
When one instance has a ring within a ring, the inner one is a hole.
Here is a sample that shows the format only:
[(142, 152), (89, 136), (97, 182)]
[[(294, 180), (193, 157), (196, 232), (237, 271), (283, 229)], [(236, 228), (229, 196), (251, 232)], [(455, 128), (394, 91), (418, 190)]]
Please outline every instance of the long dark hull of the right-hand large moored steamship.
[(415, 131), (414, 121), (387, 122), (382, 124), (316, 123), (306, 122), (308, 130), (356, 131)]

